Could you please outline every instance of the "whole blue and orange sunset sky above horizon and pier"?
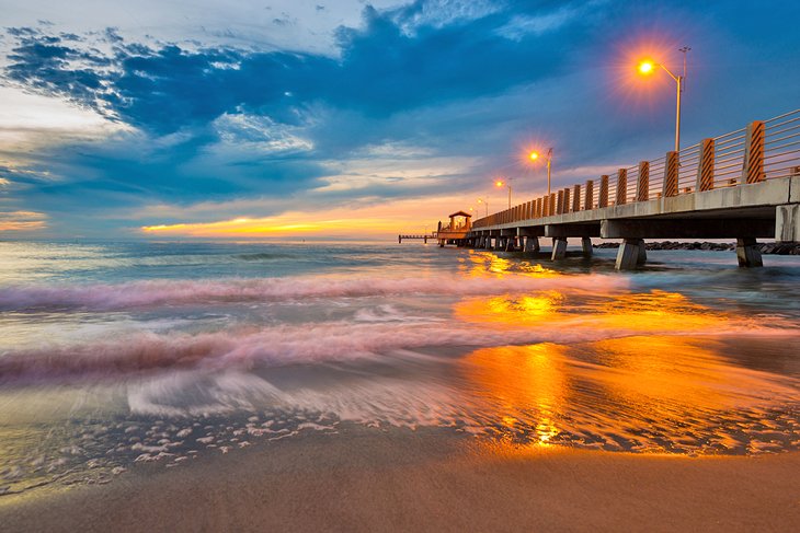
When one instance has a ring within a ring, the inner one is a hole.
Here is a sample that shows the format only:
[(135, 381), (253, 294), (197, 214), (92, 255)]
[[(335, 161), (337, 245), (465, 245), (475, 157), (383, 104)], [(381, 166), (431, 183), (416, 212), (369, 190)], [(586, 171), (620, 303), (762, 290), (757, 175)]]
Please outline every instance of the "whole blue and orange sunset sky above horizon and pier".
[[(384, 239), (800, 107), (800, 2), (0, 0), (0, 240)], [(478, 199), (481, 199), (481, 202)]]

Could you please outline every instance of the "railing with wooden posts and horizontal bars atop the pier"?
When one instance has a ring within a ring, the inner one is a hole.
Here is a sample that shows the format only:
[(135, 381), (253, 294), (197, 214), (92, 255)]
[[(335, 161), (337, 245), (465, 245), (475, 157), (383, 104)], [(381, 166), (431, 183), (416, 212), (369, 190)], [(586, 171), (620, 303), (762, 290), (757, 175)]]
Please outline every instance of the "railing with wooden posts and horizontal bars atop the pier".
[(800, 109), (704, 139), (472, 222), (473, 229), (800, 176)]

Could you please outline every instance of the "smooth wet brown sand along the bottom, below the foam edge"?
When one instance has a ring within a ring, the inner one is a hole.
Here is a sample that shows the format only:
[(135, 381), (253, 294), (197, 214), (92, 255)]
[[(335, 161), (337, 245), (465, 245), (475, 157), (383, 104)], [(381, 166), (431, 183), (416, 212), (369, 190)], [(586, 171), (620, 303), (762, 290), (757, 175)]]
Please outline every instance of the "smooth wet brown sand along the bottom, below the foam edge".
[(0, 499), (3, 531), (791, 531), (800, 453), (668, 456), (350, 428)]

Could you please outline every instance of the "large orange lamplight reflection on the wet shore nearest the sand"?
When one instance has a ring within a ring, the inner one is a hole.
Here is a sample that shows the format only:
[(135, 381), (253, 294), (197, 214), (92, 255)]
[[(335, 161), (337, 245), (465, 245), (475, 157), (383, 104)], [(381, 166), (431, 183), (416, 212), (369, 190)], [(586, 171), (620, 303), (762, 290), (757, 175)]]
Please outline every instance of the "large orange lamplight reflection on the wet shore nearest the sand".
[[(792, 440), (776, 403), (796, 379), (740, 367), (707, 337), (630, 336), (473, 351), (462, 372), (503, 438), (649, 453), (775, 449)], [(796, 438), (795, 438), (796, 440)], [(777, 442), (777, 443), (776, 443)]]

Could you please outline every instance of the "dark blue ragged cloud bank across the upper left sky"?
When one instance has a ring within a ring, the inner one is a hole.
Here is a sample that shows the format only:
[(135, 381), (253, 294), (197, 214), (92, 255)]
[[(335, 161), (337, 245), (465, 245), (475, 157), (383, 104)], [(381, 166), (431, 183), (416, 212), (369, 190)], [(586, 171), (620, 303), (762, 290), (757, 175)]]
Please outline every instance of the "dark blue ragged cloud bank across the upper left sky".
[[(409, 35), (402, 26), (413, 9), (367, 7), (363, 27), (338, 31), (339, 61), (286, 51), (152, 49), (124, 43), (114, 30), (105, 32), (114, 50), (108, 56), (65, 36), (15, 28), (20, 43), (5, 77), (163, 135), (240, 108), (279, 115), (289, 105), (312, 102), (386, 117), (553, 76), (569, 54), (559, 34), (514, 42), (502, 36), (508, 13), (445, 27), (422, 25)], [(582, 38), (580, 22), (569, 30), (573, 43)], [(537, 68), (525, 68), (530, 63)]]

